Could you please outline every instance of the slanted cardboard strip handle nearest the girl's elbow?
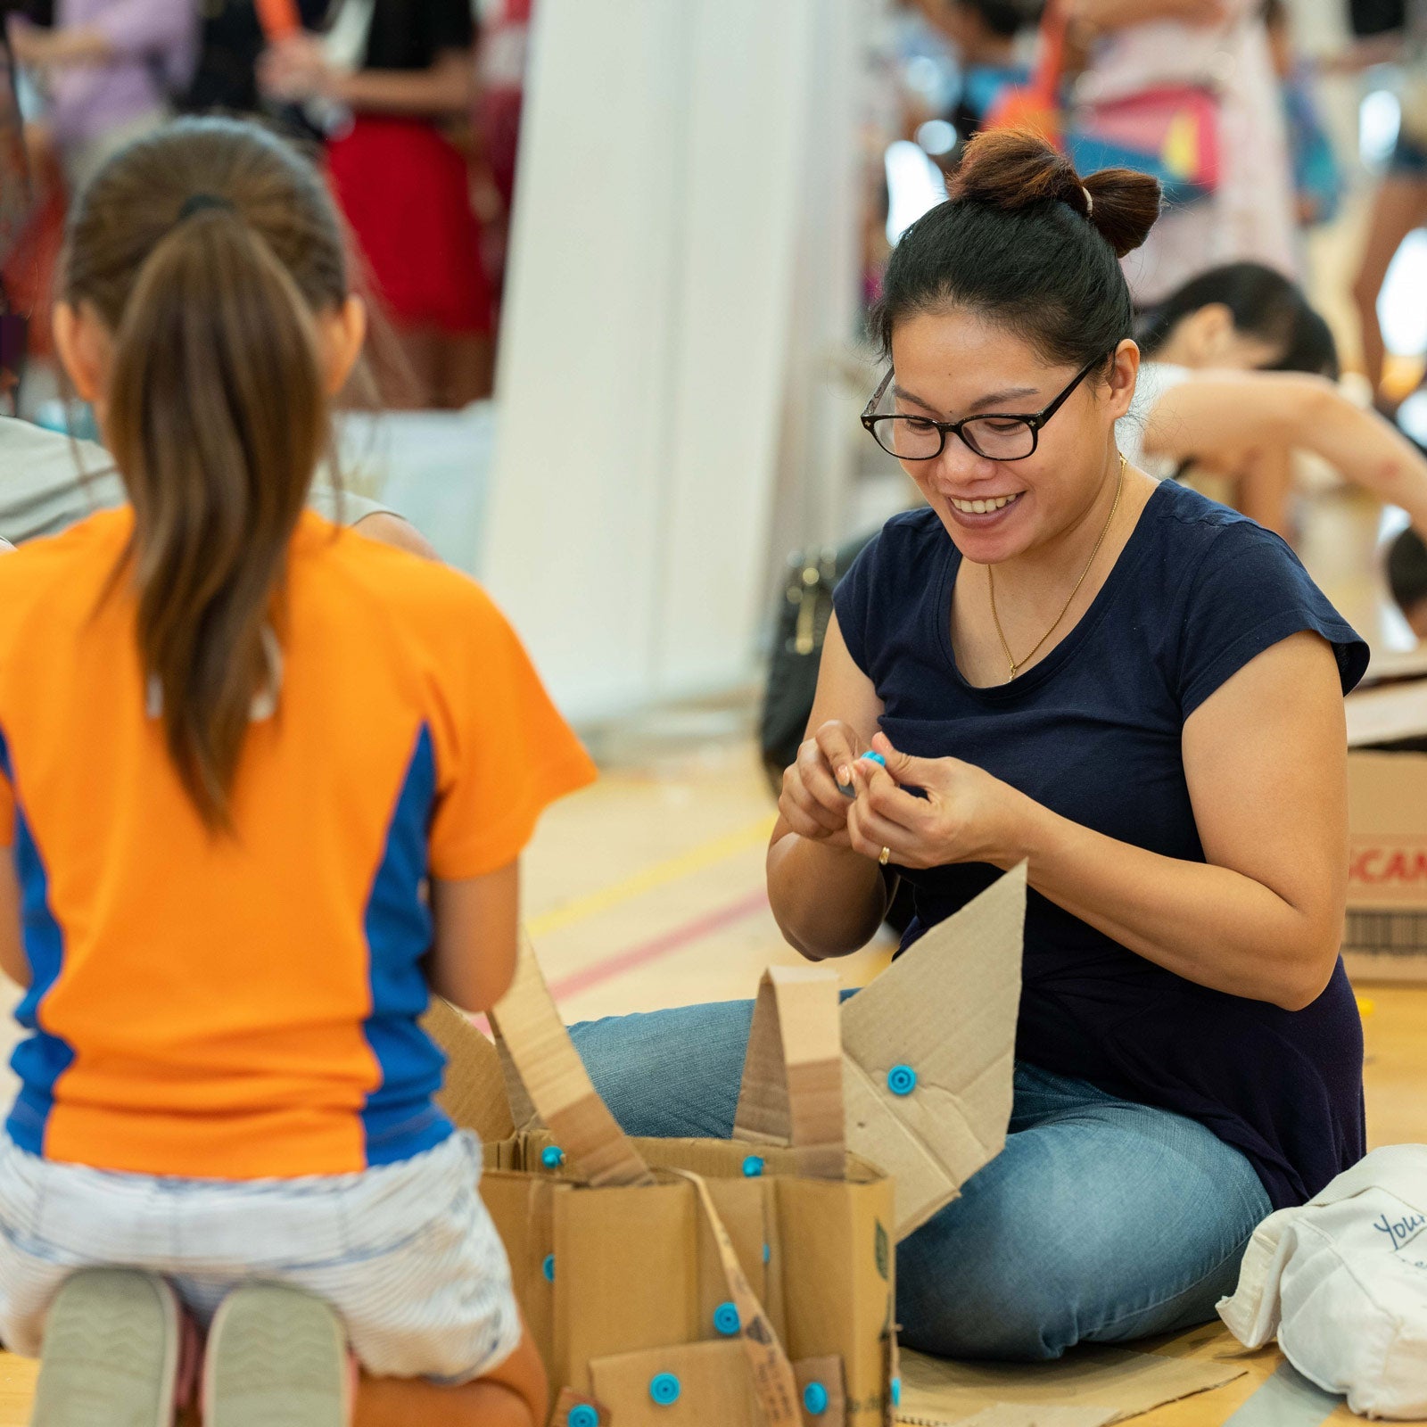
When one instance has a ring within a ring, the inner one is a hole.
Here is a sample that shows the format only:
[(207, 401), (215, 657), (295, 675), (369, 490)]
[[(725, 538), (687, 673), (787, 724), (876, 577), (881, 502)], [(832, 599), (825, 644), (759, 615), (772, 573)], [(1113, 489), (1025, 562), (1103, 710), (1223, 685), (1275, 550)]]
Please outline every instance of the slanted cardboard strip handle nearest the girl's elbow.
[(575, 1172), (589, 1184), (652, 1184), (649, 1167), (599, 1099), (524, 936), (515, 980), (491, 1020)]

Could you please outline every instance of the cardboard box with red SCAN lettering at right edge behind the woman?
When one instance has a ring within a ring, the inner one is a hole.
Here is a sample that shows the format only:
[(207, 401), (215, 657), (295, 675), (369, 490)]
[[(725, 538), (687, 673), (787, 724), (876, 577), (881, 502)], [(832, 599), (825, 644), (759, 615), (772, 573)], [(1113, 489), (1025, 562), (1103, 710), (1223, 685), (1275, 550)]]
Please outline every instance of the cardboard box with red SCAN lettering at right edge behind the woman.
[(1354, 982), (1427, 985), (1427, 679), (1349, 695), (1343, 962)]

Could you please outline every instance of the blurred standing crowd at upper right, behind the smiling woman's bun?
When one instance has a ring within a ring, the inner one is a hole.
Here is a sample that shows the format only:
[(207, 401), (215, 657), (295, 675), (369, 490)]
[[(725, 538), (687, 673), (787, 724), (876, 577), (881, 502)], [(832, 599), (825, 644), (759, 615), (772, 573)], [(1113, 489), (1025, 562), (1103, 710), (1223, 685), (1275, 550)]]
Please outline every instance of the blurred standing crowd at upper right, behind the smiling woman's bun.
[[(1334, 321), (1343, 365), (1367, 377), (1380, 410), (1396, 412), (1417, 387), (1423, 0), (908, 0), (883, 68), (889, 103), (868, 154), (869, 295), (890, 244), (940, 200), (942, 173), (980, 127), (1050, 123), (1082, 173), (1126, 163), (1164, 184), (1166, 214), (1126, 264), (1142, 308), (1209, 268), (1261, 263), (1331, 315), (1346, 300), (1359, 330)], [(1350, 214), (1351, 251), (1336, 248), (1327, 283), (1316, 280), (1311, 238), (1354, 195), (1366, 231)], [(1394, 258), (1394, 297), (1383, 301)], [(1341, 293), (1323, 291), (1333, 281)], [(1386, 345), (1380, 310), (1394, 314)]]

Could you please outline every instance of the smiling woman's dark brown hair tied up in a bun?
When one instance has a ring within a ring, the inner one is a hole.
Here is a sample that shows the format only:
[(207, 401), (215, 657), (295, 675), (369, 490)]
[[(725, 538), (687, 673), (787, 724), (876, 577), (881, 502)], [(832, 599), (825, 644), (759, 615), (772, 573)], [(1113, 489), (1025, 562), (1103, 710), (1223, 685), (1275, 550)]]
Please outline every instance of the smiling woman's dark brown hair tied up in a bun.
[(883, 355), (903, 317), (956, 307), (1026, 337), (1047, 361), (1073, 367), (1133, 335), (1119, 260), (1154, 225), (1154, 178), (1129, 168), (1082, 178), (1037, 134), (992, 130), (966, 146), (949, 194), (892, 251), (872, 313)]

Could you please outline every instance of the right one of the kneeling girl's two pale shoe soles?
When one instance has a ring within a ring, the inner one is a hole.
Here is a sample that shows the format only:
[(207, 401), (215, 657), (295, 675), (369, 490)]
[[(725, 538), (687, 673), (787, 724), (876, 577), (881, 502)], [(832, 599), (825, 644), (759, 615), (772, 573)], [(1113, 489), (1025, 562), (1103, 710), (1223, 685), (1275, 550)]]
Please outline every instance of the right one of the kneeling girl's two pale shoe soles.
[(205, 1427), (347, 1427), (347, 1336), (321, 1299), (253, 1283), (223, 1300), (204, 1361)]

